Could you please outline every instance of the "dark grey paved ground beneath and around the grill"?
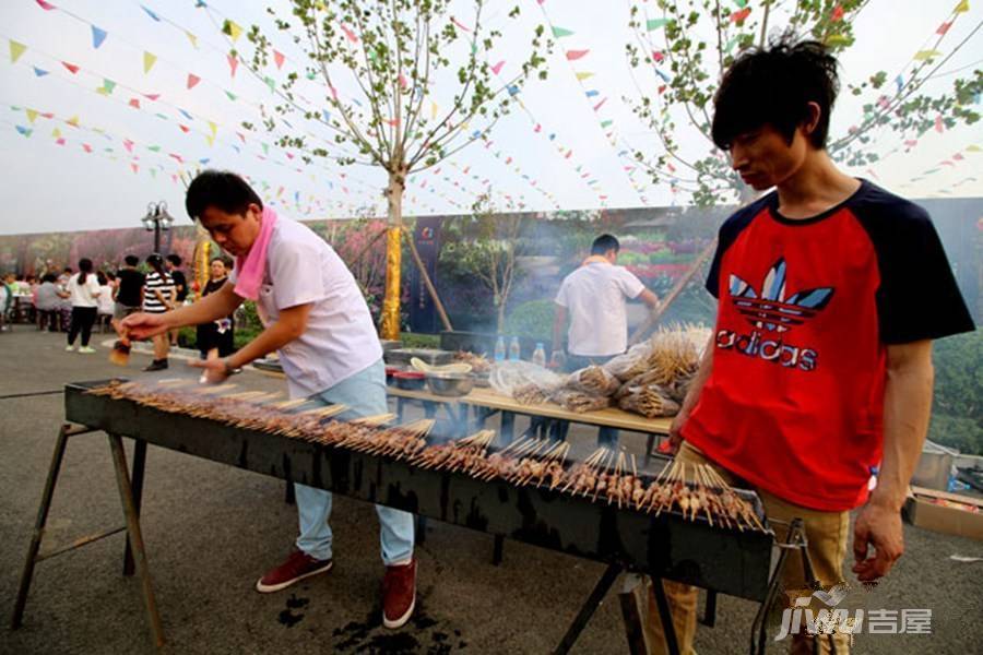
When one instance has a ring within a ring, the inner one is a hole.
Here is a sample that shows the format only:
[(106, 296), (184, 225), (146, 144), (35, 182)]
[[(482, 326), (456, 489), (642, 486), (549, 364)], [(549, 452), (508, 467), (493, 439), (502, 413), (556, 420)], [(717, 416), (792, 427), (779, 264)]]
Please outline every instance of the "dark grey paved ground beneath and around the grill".
[[(145, 361), (134, 357), (131, 368)], [(63, 418), (58, 391), (68, 381), (118, 374), (105, 350), (63, 352), (58, 335), (26, 326), (0, 334), (0, 653), (150, 652), (138, 579), (120, 575), (121, 535), (52, 560), (35, 573), (26, 620), (8, 629), (23, 558)], [(247, 372), (242, 383), (280, 381)], [(584, 433), (573, 439), (583, 443)], [(629, 438), (632, 446), (638, 439)], [(429, 523), (418, 549), (419, 610), (405, 629), (380, 627), (375, 514), (337, 498), (335, 568), (274, 595), (252, 591), (256, 577), (289, 550), (296, 531), (283, 483), (161, 449), (151, 449), (143, 528), (167, 653), (548, 653), (602, 568), (572, 557), (507, 543), (490, 563), (492, 538)], [(121, 523), (105, 438), (70, 442), (51, 510), (47, 544)], [(867, 608), (931, 608), (931, 635), (864, 635), (855, 652), (980, 653), (983, 643), (983, 544), (905, 526), (908, 552), (890, 579), (863, 595)], [(755, 611), (722, 598), (716, 627), (700, 630), (697, 651), (742, 653)], [(773, 647), (770, 652), (782, 652)], [(588, 626), (576, 653), (621, 653), (612, 597)]]

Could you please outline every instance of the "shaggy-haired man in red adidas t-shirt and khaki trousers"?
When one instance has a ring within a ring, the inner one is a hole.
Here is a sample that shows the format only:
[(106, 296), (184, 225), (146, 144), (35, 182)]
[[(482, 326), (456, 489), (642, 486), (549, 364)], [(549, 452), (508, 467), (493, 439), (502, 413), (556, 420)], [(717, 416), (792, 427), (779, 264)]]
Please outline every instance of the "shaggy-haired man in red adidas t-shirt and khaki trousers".
[[(827, 590), (845, 581), (848, 513), (878, 464), (856, 516), (853, 572), (874, 582), (901, 556), (900, 510), (932, 405), (932, 340), (974, 329), (925, 211), (832, 163), (838, 86), (837, 60), (815, 41), (743, 55), (721, 82), (713, 141), (745, 184), (775, 190), (720, 230), (707, 281), (716, 326), (671, 432), (680, 461), (755, 488), (779, 539), (803, 519)], [(806, 588), (797, 557), (783, 584)], [(696, 588), (666, 591), (688, 653)], [(661, 628), (650, 612), (650, 647)], [(794, 635), (793, 652), (812, 652), (808, 639)]]

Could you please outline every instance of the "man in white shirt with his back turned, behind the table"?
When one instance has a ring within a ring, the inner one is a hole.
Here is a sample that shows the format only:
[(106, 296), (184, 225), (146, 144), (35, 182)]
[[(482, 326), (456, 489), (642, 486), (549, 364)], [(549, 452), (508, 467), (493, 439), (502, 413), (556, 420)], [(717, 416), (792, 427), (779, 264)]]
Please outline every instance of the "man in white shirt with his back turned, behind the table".
[[(553, 319), (553, 366), (576, 371), (601, 365), (628, 348), (628, 300), (641, 300), (649, 308), (659, 298), (625, 266), (618, 266), (621, 245), (612, 235), (601, 235), (591, 246), (591, 255), (564, 278)], [(564, 327), (569, 318), (566, 354)], [(566, 426), (559, 428), (560, 436)], [(611, 445), (617, 430), (601, 428), (597, 441)]]

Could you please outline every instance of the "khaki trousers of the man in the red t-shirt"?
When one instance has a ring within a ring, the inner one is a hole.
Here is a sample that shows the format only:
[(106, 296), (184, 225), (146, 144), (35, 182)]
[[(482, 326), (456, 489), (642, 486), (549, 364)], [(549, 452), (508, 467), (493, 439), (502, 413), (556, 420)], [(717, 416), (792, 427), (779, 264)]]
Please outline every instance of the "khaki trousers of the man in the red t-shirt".
[[(743, 488), (749, 487), (744, 480), (708, 460), (702, 452), (686, 441), (680, 445), (676, 460), (686, 464), (710, 465), (727, 484)], [(774, 521), (771, 524), (771, 528), (774, 531), (777, 541), (782, 543), (785, 540), (789, 523), (793, 519), (802, 519), (805, 525), (806, 538), (808, 539), (807, 550), (813, 564), (813, 574), (826, 590), (842, 582), (842, 564), (843, 558), (846, 556), (846, 539), (850, 529), (849, 513), (810, 510), (786, 502), (762, 489), (755, 490), (761, 497), (765, 514), (770, 521)], [(665, 585), (665, 595), (668, 598), (670, 611), (673, 615), (673, 626), (676, 629), (679, 651), (684, 655), (690, 655), (694, 653), (692, 642), (696, 636), (698, 590), (695, 586), (678, 582), (664, 581), (663, 584)], [(649, 653), (666, 653), (662, 620), (659, 618), (659, 610), (651, 585), (652, 581), (650, 580), (647, 585), (648, 598), (642, 630)], [(802, 592), (802, 595), (812, 593), (812, 590), (807, 588), (805, 581), (802, 556), (798, 551), (791, 550), (782, 571), (779, 594), (791, 606), (794, 603), (795, 592), (798, 591)], [(792, 595), (790, 596), (789, 594)], [(750, 626), (748, 626), (749, 629)], [(806, 634), (793, 635), (790, 639), (790, 653), (812, 655), (814, 652), (813, 639), (815, 638)], [(837, 655), (846, 655), (850, 652), (849, 635), (837, 634), (834, 639)], [(831, 652), (828, 636), (824, 635), (819, 643), (824, 654)]]

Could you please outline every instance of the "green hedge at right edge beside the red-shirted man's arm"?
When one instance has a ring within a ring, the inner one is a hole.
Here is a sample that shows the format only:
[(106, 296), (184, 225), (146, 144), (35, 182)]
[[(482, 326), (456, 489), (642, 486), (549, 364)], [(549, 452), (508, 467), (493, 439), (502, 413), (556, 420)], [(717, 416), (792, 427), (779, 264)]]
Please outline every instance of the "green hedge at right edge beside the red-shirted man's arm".
[(983, 330), (935, 343), (935, 395), (928, 438), (983, 455)]

